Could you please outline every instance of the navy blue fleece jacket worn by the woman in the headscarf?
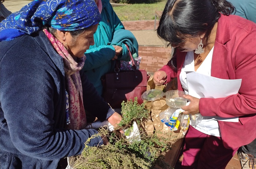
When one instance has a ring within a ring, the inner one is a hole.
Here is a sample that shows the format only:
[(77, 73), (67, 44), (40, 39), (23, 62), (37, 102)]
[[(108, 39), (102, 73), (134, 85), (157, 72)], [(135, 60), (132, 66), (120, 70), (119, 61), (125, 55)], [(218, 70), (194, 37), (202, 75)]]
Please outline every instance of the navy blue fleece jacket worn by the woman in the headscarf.
[[(80, 154), (97, 131), (65, 129), (63, 59), (44, 32), (2, 41), (0, 51), (0, 169), (55, 169), (60, 158)], [(81, 79), (84, 107), (105, 120), (109, 105)]]

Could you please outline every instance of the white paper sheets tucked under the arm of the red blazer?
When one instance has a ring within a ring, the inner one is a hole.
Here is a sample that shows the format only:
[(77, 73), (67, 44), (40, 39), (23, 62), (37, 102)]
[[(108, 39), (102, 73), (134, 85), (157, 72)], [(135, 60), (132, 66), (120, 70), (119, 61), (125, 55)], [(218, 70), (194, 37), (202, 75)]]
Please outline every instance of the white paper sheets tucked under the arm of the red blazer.
[[(197, 98), (223, 98), (238, 93), (242, 79), (227, 80), (207, 76), (197, 72), (186, 72), (189, 95)], [(221, 118), (212, 117), (215, 120), (238, 122), (238, 117)]]

